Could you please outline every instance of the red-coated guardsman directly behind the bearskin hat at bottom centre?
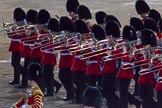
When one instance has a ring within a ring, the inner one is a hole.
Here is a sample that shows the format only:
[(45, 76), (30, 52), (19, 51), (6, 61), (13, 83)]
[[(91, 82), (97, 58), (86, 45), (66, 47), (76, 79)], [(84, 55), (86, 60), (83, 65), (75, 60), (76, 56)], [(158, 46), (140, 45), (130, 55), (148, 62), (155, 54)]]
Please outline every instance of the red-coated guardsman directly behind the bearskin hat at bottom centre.
[[(92, 26), (91, 32), (92, 32), (92, 35), (94, 35), (93, 37), (95, 39), (94, 41), (100, 41), (100, 40), (105, 39), (105, 31), (99, 25), (94, 24)], [(97, 43), (95, 42), (94, 44), (96, 45), (95, 46), (96, 48), (92, 48), (91, 52), (85, 55), (85, 57), (87, 56), (86, 82), (88, 83), (88, 85), (91, 85), (91, 86), (101, 86), (102, 73), (100, 69), (100, 61), (104, 53), (103, 54), (99, 54), (99, 53), (102, 53), (105, 50), (102, 51), (101, 49), (104, 47), (98, 46)], [(93, 55), (96, 55), (96, 56), (93, 56)]]

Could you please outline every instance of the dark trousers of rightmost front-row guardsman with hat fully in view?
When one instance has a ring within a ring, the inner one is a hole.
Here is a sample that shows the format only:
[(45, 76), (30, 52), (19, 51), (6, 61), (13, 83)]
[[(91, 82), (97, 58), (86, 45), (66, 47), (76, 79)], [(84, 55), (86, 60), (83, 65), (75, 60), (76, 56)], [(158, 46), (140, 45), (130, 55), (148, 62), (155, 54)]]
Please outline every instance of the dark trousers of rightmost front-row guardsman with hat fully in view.
[(151, 84), (141, 84), (141, 98), (143, 99), (142, 108), (157, 108), (153, 99), (154, 87)]

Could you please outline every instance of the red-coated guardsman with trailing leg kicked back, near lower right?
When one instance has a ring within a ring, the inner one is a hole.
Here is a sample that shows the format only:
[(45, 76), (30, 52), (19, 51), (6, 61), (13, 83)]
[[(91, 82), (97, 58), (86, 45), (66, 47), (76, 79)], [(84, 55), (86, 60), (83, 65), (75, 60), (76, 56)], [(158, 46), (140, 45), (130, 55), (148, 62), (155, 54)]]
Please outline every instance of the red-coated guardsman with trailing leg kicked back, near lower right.
[[(125, 42), (131, 42), (137, 40), (136, 31), (132, 26), (125, 25), (123, 28), (122, 37)], [(130, 45), (130, 46), (129, 46)], [(133, 69), (133, 57), (131, 56), (131, 44), (121, 45), (123, 48), (121, 66), (117, 73), (117, 78), (119, 79), (119, 108), (128, 108), (128, 102), (130, 104), (136, 105), (136, 108), (140, 108), (141, 102), (133, 97), (129, 93), (129, 85), (131, 79), (134, 78), (134, 69)], [(136, 59), (136, 58), (134, 58)]]

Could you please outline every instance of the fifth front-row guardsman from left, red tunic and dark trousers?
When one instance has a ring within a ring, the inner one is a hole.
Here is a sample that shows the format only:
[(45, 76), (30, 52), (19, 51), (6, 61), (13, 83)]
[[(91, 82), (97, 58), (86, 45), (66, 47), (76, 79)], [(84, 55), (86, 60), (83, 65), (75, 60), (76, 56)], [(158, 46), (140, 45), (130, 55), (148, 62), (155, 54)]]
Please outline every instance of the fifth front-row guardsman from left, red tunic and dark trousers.
[[(74, 32), (74, 25), (71, 19), (68, 17), (61, 17), (60, 21), (60, 29), (63, 31), (63, 35), (66, 36), (66, 33)], [(66, 44), (66, 42), (65, 42)], [(73, 100), (74, 98), (74, 83), (72, 79), (72, 71), (71, 66), (73, 63), (73, 55), (69, 50), (64, 50), (60, 52), (60, 62), (59, 62), (59, 79), (63, 84), (66, 90), (66, 97), (64, 100)]]

